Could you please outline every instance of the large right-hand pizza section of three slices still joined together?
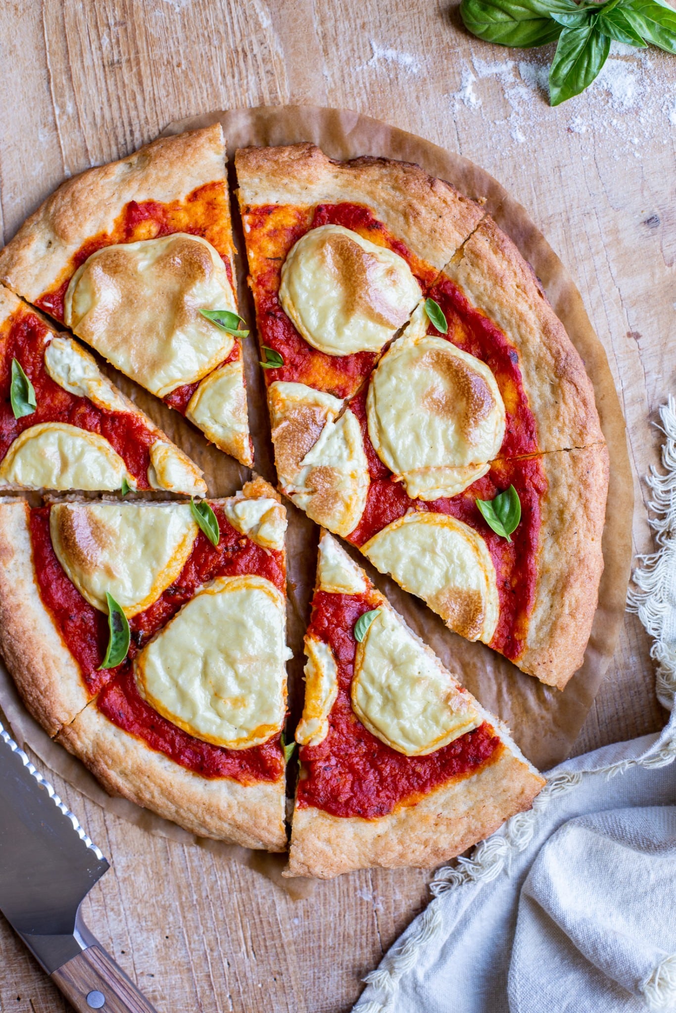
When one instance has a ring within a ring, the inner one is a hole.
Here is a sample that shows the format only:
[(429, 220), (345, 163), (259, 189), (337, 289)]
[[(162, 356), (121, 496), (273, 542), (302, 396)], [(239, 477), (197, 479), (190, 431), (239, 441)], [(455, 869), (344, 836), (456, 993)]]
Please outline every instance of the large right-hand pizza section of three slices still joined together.
[[(235, 164), (280, 488), (450, 629), (562, 689), (596, 610), (608, 454), (531, 268), (416, 166), (312, 145)], [(510, 531), (486, 521), (506, 502)]]

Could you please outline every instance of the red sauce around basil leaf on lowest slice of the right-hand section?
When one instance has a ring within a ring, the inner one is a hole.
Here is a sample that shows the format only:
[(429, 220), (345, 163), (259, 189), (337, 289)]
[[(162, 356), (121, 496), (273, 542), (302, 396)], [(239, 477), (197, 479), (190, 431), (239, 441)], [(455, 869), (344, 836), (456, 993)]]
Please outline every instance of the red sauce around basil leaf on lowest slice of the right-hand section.
[[(547, 490), (547, 480), (539, 457), (494, 461), (482, 478), (450, 498), (411, 499), (403, 484), (394, 480), (369, 439), (366, 424), (366, 393), (350, 407), (362, 426), (362, 439), (369, 462), (371, 484), (364, 513), (348, 541), (362, 546), (388, 524), (409, 511), (446, 514), (474, 528), (486, 544), (496, 568), (500, 617), (491, 646), (511, 660), (517, 660), (525, 647), (528, 617), (535, 601), (537, 556), (541, 524), (540, 502)], [(512, 533), (512, 541), (497, 535), (485, 523), (476, 499), (493, 499), (514, 485), (521, 500), (521, 521)]]

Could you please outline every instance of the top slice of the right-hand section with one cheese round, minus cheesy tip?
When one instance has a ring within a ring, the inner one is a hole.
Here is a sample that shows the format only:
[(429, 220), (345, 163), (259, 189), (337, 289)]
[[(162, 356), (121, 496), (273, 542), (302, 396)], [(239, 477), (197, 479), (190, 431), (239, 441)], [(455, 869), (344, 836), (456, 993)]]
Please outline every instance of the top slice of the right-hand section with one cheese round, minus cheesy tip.
[(419, 166), (312, 144), (235, 154), (268, 383), (345, 398), (482, 217)]

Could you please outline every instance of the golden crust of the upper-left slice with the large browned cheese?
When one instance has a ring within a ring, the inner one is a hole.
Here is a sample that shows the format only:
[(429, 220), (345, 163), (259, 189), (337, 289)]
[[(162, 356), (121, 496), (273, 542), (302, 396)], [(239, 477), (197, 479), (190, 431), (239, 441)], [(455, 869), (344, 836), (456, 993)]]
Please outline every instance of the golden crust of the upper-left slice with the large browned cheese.
[(110, 232), (130, 201), (178, 201), (225, 178), (220, 124), (162, 137), (107, 165), (67, 179), (0, 252), (0, 281), (28, 301), (50, 290), (91, 236)]

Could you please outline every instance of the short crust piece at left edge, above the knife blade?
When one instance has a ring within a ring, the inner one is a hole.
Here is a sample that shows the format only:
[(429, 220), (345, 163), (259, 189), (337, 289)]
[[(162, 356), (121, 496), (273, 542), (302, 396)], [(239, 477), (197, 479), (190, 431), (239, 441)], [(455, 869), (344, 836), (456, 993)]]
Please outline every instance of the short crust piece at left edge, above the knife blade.
[(40, 597), (28, 518), (23, 500), (0, 502), (0, 650), (26, 707), (55, 735), (89, 697)]

